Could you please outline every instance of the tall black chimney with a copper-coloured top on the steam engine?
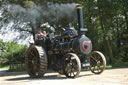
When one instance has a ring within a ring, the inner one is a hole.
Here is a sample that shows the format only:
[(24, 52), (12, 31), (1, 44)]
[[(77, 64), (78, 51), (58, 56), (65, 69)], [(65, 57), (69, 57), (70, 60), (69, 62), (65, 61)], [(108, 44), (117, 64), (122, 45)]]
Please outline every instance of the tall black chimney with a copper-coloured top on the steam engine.
[(78, 24), (79, 24), (79, 35), (84, 35), (87, 31), (86, 28), (84, 28), (84, 22), (83, 22), (83, 6), (77, 5), (77, 17), (78, 17)]

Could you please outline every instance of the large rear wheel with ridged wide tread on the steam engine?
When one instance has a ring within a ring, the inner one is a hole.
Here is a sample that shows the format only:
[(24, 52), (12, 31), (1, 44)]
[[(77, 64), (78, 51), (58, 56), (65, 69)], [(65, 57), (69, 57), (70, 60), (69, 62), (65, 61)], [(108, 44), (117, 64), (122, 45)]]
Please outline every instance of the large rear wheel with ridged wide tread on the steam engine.
[(30, 77), (42, 77), (47, 71), (45, 50), (41, 46), (30, 46), (25, 56), (25, 64)]

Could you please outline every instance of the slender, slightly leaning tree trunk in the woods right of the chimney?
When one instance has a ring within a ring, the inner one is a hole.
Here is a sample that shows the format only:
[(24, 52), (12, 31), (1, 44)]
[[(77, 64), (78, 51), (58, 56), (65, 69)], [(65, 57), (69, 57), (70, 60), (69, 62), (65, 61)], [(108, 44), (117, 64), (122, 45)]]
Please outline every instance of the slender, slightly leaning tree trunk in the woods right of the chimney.
[(110, 40), (109, 40), (109, 38), (106, 39), (107, 32), (108, 32), (109, 28), (107, 26), (107, 18), (106, 18), (106, 16), (103, 15), (103, 14), (106, 14), (106, 13), (104, 13), (105, 10), (104, 10), (104, 8), (101, 7), (101, 4), (103, 4), (102, 1), (98, 0), (98, 11), (99, 11), (100, 25), (101, 25), (101, 29), (104, 33), (103, 34), (104, 50), (105, 50), (105, 54), (109, 58), (109, 63), (113, 64), (114, 63), (114, 58), (113, 58), (113, 52), (112, 52)]

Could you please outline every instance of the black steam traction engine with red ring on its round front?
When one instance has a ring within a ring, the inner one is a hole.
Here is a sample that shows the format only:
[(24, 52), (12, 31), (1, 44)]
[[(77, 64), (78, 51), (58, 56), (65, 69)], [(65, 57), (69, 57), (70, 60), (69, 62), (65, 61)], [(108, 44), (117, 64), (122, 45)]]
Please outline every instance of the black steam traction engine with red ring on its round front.
[(49, 34), (31, 45), (25, 56), (27, 72), (30, 77), (42, 77), (48, 67), (68, 78), (79, 75), (81, 67), (100, 74), (106, 66), (106, 59), (99, 51), (92, 51), (91, 40), (85, 36), (83, 7), (76, 6), (79, 31), (67, 28), (61, 36)]

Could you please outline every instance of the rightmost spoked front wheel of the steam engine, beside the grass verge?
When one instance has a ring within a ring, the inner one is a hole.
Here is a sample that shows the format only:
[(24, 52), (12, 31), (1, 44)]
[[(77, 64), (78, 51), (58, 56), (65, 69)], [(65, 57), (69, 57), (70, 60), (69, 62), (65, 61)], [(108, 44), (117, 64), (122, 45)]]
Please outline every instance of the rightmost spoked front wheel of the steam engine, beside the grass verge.
[(93, 51), (89, 55), (90, 66), (89, 69), (92, 73), (100, 74), (106, 67), (106, 58), (99, 51)]

